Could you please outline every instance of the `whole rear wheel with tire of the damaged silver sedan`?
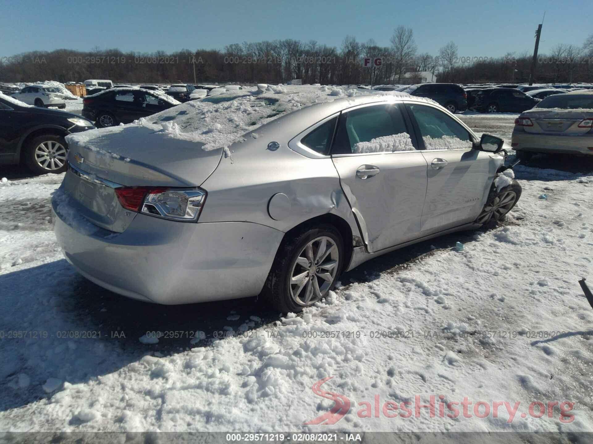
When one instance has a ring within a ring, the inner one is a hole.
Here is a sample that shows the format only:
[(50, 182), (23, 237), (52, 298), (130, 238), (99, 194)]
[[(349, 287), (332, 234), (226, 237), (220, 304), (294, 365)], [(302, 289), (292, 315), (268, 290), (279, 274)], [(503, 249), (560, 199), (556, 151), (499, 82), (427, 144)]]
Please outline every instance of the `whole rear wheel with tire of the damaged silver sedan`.
[(307, 227), (280, 244), (262, 290), (282, 313), (298, 313), (329, 294), (344, 260), (342, 236), (333, 226)]

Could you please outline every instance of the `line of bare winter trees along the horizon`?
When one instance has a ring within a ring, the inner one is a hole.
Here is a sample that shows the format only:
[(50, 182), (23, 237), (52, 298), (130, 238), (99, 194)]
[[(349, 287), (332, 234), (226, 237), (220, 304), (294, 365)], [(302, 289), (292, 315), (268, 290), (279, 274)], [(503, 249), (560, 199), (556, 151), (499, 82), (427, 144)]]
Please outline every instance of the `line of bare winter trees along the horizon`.
[[(526, 82), (530, 53), (500, 57), (460, 54), (450, 41), (438, 54), (419, 53), (413, 30), (399, 26), (390, 46), (370, 39), (359, 42), (346, 36), (339, 48), (310, 40), (275, 40), (235, 43), (224, 50), (153, 53), (122, 52), (95, 47), (88, 52), (58, 49), (33, 51), (0, 59), (0, 82), (57, 80), (82, 82), (110, 79), (125, 83), (417, 83), (414, 73), (431, 72), (438, 82)], [(380, 59), (364, 66), (366, 57)], [(559, 43), (550, 54), (537, 57), (537, 82), (592, 82), (593, 34), (582, 46)]]

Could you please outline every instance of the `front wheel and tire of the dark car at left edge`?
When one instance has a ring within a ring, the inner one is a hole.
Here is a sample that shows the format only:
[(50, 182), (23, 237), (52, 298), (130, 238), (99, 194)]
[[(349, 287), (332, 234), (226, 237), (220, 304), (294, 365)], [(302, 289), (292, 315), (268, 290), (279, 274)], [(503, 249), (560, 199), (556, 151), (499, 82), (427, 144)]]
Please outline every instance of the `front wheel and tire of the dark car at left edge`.
[(28, 168), (37, 174), (63, 173), (68, 166), (68, 144), (56, 134), (34, 137), (27, 143), (23, 155)]

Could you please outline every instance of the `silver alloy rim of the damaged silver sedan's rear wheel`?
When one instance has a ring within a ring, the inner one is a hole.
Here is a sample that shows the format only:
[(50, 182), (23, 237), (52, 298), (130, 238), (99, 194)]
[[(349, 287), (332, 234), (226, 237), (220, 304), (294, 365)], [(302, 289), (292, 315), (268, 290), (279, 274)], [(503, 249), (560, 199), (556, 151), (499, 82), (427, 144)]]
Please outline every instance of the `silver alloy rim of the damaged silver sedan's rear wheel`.
[(289, 288), (298, 305), (310, 305), (326, 295), (339, 265), (339, 250), (327, 236), (307, 243), (297, 256), (291, 270)]

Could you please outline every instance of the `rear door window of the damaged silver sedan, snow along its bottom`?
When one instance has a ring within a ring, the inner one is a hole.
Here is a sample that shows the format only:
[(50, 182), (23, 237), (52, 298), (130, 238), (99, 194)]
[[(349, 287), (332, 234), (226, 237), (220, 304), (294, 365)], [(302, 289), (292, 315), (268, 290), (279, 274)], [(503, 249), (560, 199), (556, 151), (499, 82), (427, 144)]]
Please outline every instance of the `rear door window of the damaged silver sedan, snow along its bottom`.
[(413, 151), (415, 147), (398, 105), (372, 105), (343, 112), (331, 153), (367, 154)]

